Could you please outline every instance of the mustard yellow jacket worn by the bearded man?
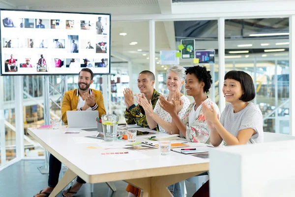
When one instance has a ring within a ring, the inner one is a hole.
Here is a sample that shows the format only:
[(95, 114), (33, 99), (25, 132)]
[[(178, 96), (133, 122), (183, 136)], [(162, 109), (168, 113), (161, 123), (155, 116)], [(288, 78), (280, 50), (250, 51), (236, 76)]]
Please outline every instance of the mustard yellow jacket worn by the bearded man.
[[(101, 91), (93, 90), (92, 94), (94, 94), (94, 99), (98, 107), (95, 110), (98, 110), (99, 119), (101, 118), (101, 115), (106, 114), (106, 109), (104, 107), (103, 103), (103, 97)], [(77, 96), (78, 89), (67, 91), (64, 93), (62, 104), (61, 104), (61, 119), (62, 122), (64, 122), (65, 125), (67, 125), (67, 117), (66, 117), (66, 111), (77, 111), (79, 96)]]

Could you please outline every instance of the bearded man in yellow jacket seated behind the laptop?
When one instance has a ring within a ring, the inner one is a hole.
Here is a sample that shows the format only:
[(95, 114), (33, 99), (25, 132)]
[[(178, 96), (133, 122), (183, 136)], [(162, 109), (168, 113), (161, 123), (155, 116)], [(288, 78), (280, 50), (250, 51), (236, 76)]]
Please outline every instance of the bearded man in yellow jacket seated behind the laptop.
[[(61, 104), (61, 119), (64, 124), (67, 125), (66, 111), (97, 110), (99, 113), (99, 119), (101, 118), (101, 115), (106, 114), (102, 93), (98, 90), (90, 89), (89, 87), (92, 83), (93, 72), (89, 68), (83, 68), (79, 72), (79, 88), (67, 91), (63, 96)], [(53, 155), (50, 155), (48, 187), (41, 190), (34, 197), (48, 197), (50, 195), (59, 182), (60, 169), (60, 161)], [(86, 182), (78, 176), (77, 182), (73, 185), (73, 187), (65, 190), (62, 195), (65, 197), (73, 196), (73, 194), (76, 194), (84, 183)]]

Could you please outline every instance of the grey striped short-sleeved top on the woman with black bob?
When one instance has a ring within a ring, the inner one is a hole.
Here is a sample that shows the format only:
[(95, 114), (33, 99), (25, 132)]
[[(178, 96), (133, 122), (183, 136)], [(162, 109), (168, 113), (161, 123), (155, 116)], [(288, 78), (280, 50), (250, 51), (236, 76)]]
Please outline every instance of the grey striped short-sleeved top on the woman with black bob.
[[(234, 113), (232, 104), (226, 105), (220, 117), (220, 123), (235, 137), (238, 132), (245, 129), (253, 129), (256, 131), (247, 144), (263, 143), (263, 117), (261, 110), (252, 102), (244, 109)], [(227, 146), (225, 141), (223, 145)]]

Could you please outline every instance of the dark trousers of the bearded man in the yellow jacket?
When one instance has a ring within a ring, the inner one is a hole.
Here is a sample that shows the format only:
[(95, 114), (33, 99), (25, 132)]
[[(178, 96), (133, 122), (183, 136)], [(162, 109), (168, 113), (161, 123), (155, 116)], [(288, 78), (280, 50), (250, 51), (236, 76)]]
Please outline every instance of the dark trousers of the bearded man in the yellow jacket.
[[(59, 172), (61, 169), (61, 162), (52, 154), (50, 154), (49, 158), (49, 176), (48, 176), (48, 186), (55, 187), (59, 182)], [(82, 178), (79, 176), (77, 177), (78, 183), (86, 183)]]

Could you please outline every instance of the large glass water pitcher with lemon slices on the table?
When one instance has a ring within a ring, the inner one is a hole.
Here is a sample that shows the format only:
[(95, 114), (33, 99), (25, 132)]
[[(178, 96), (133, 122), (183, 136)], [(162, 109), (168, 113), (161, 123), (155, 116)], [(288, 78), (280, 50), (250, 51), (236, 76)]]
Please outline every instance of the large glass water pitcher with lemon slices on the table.
[(115, 114), (107, 114), (101, 116), (102, 131), (105, 141), (117, 140), (118, 121), (119, 117)]

